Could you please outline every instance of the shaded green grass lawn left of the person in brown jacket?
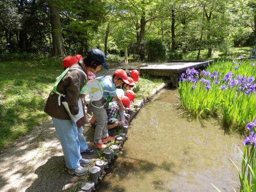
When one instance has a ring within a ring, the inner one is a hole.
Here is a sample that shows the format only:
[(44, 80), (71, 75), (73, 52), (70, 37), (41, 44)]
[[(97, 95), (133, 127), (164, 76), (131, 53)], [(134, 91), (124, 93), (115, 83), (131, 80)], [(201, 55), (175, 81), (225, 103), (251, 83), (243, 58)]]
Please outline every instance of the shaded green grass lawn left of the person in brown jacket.
[(48, 118), (44, 105), (61, 63), (59, 58), (0, 62), (0, 149)]

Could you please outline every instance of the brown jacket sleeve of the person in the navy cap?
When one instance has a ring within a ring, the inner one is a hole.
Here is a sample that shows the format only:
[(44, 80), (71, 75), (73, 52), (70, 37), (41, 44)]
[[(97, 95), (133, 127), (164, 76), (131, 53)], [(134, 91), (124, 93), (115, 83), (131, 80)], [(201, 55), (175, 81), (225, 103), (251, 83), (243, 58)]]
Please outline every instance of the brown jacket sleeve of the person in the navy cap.
[(79, 94), (84, 84), (84, 74), (79, 70), (71, 70), (70, 74), (64, 80), (68, 86), (66, 88), (66, 100), (70, 108), (70, 112), (73, 115), (77, 115), (79, 112), (78, 99)]

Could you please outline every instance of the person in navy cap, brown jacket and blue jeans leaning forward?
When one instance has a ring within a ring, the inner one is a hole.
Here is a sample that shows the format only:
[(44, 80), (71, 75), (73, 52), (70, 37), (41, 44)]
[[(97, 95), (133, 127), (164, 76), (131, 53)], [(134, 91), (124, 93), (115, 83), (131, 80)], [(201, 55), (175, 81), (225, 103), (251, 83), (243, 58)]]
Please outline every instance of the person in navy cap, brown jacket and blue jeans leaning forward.
[(79, 94), (86, 84), (86, 73), (87, 71), (95, 73), (101, 69), (102, 65), (108, 69), (105, 54), (99, 49), (89, 50), (86, 58), (80, 59), (66, 74), (63, 73), (62, 78), (58, 79), (54, 86), (56, 91), (50, 92), (44, 108), (44, 112), (52, 117), (69, 174), (78, 176), (86, 174), (87, 169), (83, 166), (90, 164), (90, 160), (82, 158), (78, 139), (78, 132), (81, 130), (76, 128), (61, 102), (66, 100), (71, 114), (78, 114)]

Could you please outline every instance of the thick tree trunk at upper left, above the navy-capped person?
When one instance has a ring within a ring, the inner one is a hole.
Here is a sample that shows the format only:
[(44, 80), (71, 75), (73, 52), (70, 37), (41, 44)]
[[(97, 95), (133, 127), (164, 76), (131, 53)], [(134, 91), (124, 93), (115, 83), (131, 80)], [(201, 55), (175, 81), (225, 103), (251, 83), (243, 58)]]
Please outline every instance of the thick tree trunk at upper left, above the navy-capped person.
[(60, 15), (54, 6), (50, 6), (50, 20), (52, 28), (52, 56), (66, 57), (67, 53), (61, 33)]

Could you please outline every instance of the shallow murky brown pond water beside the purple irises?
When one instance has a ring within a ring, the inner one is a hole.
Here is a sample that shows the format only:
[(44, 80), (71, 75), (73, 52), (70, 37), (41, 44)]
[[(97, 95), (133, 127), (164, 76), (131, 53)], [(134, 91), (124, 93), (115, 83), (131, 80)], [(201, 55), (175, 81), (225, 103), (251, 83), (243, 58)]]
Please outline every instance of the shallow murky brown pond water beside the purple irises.
[(189, 121), (176, 109), (177, 90), (162, 90), (132, 120), (123, 153), (97, 192), (222, 192), (237, 189), (242, 138), (213, 121)]

